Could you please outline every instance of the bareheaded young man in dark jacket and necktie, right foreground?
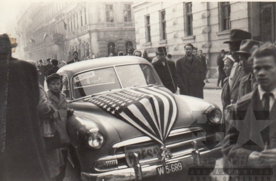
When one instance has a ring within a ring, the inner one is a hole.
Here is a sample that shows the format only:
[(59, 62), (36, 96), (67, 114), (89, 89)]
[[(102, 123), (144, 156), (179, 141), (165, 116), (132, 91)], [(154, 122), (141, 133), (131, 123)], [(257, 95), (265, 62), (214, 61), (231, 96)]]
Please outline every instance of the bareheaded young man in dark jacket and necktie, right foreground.
[[(259, 86), (238, 100), (230, 119), (225, 120), (231, 126), (225, 132), (222, 151), (235, 169), (275, 168), (276, 48), (271, 43), (264, 44), (252, 57)], [(270, 177), (275, 178), (272, 173)]]

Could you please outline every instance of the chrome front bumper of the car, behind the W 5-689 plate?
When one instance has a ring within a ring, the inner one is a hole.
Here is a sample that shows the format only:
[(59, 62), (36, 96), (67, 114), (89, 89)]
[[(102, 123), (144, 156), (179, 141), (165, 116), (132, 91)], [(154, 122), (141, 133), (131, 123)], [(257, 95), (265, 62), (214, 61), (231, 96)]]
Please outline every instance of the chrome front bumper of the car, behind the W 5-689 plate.
[[(210, 168), (210, 165), (215, 164), (216, 160), (222, 157), (221, 146), (209, 150), (208, 148), (202, 148), (197, 150), (198, 153), (195, 153), (196, 150), (185, 150), (180, 151), (175, 154), (170, 159), (166, 159), (166, 165), (171, 163), (181, 162), (183, 167), (189, 166), (199, 166)], [(211, 160), (211, 161), (210, 161)], [(205, 162), (207, 161), (207, 163)], [(206, 163), (202, 166), (202, 163)], [(144, 165), (142, 166), (140, 175), (135, 173), (134, 168), (123, 168), (114, 171), (108, 171), (104, 173), (81, 173), (81, 180), (83, 181), (105, 181), (105, 180), (140, 180), (141, 176), (150, 177), (157, 175), (156, 168), (163, 166), (162, 164), (156, 165)]]

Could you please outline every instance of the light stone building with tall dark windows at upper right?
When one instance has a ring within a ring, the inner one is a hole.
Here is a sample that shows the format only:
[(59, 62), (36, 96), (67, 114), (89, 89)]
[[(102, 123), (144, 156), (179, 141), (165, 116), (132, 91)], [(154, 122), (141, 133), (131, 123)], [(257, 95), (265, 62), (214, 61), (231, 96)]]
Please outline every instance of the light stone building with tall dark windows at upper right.
[(136, 47), (154, 57), (166, 47), (177, 60), (192, 43), (211, 60), (216, 59), (232, 29), (242, 29), (261, 41), (276, 40), (276, 3), (272, 2), (142, 2), (134, 3)]

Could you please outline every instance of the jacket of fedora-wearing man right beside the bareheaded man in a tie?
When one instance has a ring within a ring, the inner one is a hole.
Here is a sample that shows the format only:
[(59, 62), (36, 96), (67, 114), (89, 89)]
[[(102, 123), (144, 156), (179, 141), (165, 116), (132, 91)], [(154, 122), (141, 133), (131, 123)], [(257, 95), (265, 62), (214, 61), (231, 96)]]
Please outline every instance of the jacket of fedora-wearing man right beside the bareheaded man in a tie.
[[(238, 100), (243, 97), (244, 95), (250, 93), (252, 90), (254, 90), (258, 86), (258, 82), (253, 82), (252, 79), (254, 75), (248, 74), (244, 76), (240, 81), (239, 86), (239, 94), (238, 94)], [(254, 84), (254, 85), (252, 85)], [(253, 87), (253, 89), (252, 89)]]

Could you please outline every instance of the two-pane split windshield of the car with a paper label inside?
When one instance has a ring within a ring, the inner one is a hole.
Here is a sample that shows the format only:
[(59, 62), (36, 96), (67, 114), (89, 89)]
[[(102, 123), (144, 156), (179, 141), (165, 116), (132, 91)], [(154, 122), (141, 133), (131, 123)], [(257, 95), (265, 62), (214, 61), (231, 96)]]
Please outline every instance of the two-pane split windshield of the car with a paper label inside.
[(162, 84), (148, 64), (120, 65), (115, 66), (115, 69), (106, 67), (75, 75), (72, 82), (73, 98), (78, 99), (118, 88)]

